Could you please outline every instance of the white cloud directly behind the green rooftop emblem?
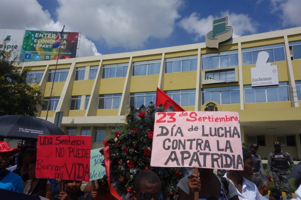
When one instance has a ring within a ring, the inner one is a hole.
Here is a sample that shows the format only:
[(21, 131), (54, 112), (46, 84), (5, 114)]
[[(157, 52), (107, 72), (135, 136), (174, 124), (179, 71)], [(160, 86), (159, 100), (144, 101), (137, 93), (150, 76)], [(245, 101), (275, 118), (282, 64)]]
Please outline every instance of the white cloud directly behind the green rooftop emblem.
[(194, 12), (189, 17), (183, 18), (179, 22), (188, 33), (195, 35), (194, 40), (205, 37), (209, 30), (212, 30), (212, 20), (228, 16), (228, 25), (233, 27), (233, 37), (238, 37), (246, 34), (254, 34), (257, 31), (258, 23), (252, 21), (246, 14), (229, 13), (229, 11), (222, 11), (219, 16), (209, 15), (206, 18), (201, 18), (200, 14)]

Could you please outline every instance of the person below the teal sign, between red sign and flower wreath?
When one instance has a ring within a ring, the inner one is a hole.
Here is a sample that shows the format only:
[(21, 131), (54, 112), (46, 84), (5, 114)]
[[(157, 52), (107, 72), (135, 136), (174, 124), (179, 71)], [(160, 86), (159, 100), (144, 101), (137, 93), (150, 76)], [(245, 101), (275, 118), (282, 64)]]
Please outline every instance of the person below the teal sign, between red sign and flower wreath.
[[(92, 184), (95, 184), (95, 191), (92, 192)], [(90, 192), (95, 200), (110, 200), (110, 190), (109, 190), (109, 184), (106, 179), (106, 176), (104, 176), (101, 179), (93, 180), (89, 182), (85, 188), (83, 189), (84, 192)]]

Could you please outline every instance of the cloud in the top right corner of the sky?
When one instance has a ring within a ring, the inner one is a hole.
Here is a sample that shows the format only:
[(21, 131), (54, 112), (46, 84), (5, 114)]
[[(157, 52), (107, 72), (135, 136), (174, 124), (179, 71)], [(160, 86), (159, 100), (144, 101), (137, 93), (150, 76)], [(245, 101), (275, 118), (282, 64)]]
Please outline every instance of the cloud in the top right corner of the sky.
[(272, 13), (279, 11), (280, 17), (283, 20), (282, 26), (301, 26), (300, 0), (271, 0)]

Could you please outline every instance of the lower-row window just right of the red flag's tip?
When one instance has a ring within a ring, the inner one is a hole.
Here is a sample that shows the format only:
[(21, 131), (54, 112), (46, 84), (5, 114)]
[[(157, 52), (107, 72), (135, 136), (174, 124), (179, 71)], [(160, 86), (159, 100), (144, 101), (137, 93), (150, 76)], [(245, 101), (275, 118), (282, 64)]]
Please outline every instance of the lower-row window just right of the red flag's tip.
[(166, 91), (166, 94), (180, 106), (195, 105), (195, 89)]

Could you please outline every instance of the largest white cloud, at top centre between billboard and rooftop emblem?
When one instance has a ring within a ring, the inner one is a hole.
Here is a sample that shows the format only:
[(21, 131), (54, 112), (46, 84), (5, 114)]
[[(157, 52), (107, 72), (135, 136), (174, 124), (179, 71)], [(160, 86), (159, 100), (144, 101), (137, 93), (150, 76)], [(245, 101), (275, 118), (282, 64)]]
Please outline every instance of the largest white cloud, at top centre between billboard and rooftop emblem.
[(59, 0), (58, 20), (109, 47), (139, 48), (171, 35), (182, 0)]

